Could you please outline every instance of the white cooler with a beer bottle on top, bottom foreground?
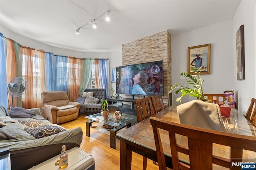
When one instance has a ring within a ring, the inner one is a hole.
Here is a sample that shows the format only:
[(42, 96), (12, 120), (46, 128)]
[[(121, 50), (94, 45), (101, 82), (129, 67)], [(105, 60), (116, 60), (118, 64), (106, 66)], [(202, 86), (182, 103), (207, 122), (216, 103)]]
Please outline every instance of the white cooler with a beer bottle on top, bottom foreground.
[[(61, 149), (60, 149), (61, 150)], [(50, 150), (49, 150), (50, 152)], [(68, 153), (68, 166), (63, 170), (94, 170), (95, 162), (94, 158), (81, 148), (74, 147), (67, 150)], [(59, 166), (55, 166), (55, 162), (60, 159), (60, 154), (33, 166), (29, 170), (60, 170)]]

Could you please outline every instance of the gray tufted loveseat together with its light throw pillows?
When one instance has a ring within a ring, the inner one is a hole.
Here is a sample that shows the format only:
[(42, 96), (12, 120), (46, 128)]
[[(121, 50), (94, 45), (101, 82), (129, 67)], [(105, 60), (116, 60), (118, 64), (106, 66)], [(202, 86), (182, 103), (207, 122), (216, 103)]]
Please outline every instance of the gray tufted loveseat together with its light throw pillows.
[(106, 99), (106, 89), (104, 88), (86, 88), (82, 96), (79, 96), (76, 102), (81, 104), (80, 114), (91, 115), (101, 112), (101, 99)]

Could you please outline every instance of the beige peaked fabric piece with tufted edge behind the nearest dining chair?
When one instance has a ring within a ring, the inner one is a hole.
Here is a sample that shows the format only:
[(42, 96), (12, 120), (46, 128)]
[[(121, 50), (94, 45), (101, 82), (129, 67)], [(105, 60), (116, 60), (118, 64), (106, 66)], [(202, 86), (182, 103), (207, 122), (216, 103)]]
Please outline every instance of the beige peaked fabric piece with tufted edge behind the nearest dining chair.
[(177, 106), (177, 112), (182, 124), (227, 132), (218, 104), (192, 100)]

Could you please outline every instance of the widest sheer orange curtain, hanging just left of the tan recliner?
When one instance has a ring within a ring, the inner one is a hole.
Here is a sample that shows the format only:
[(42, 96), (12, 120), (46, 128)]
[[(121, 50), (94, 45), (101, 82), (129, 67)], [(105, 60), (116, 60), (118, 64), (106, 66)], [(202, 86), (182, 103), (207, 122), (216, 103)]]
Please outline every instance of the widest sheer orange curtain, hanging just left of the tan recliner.
[[(20, 46), (22, 56), (22, 76), (28, 82), (25, 95), (22, 96), (22, 107), (35, 108), (42, 107), (41, 92), (44, 90), (44, 53), (36, 57), (35, 49)], [(41, 57), (41, 58), (40, 58)]]

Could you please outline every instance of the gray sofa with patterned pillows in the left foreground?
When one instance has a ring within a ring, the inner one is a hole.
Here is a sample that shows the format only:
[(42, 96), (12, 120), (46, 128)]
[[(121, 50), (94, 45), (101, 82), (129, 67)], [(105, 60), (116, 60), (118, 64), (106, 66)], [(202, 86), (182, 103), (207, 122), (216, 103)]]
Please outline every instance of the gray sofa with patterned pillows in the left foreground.
[(40, 108), (14, 107), (10, 111), (0, 106), (0, 150), (9, 148), (12, 170), (26, 170), (60, 154), (80, 147), (80, 127), (67, 130), (42, 117)]

